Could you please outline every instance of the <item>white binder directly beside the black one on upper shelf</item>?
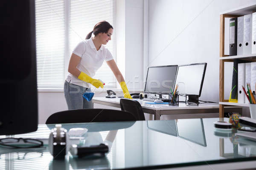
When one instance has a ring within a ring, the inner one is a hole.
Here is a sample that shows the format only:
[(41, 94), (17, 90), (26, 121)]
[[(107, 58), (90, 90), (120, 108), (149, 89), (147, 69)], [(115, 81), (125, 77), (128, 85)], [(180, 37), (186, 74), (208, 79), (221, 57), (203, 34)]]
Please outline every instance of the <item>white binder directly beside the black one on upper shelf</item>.
[(244, 16), (237, 18), (237, 55), (243, 55), (244, 49)]

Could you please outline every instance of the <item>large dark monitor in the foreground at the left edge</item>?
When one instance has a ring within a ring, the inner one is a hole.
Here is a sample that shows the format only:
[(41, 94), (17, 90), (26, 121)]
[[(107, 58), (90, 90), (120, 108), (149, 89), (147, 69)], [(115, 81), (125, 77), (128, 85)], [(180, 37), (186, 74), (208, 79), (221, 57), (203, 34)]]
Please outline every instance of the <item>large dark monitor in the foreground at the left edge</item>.
[(36, 131), (35, 0), (2, 0), (0, 135)]

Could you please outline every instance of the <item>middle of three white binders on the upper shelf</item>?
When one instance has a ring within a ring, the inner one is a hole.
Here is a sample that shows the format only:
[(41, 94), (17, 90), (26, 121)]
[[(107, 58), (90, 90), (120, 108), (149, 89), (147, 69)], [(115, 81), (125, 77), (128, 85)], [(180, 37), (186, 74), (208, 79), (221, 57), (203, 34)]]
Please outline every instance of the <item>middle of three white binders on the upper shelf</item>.
[(252, 54), (252, 14), (244, 15), (244, 54)]

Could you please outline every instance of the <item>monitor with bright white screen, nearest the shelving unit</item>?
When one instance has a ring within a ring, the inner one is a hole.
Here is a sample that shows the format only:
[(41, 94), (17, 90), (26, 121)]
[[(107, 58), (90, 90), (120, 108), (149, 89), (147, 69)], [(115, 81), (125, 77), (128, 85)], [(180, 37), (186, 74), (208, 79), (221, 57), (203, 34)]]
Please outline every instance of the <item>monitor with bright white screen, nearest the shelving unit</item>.
[(175, 79), (179, 94), (201, 96), (207, 63), (179, 65)]

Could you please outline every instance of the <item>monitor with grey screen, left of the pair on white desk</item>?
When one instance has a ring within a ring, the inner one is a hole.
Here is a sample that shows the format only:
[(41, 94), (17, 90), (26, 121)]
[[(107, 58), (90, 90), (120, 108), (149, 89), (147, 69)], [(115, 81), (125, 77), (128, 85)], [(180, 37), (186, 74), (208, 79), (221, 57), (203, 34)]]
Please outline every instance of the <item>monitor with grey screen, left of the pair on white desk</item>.
[(173, 89), (177, 65), (148, 67), (144, 93), (169, 94)]

